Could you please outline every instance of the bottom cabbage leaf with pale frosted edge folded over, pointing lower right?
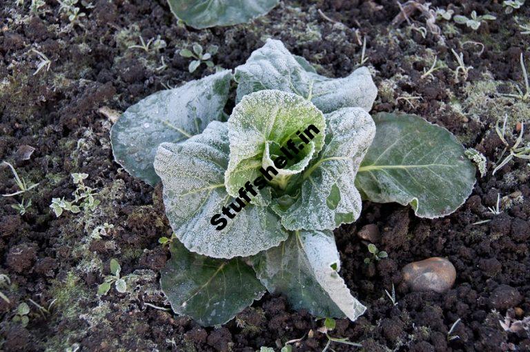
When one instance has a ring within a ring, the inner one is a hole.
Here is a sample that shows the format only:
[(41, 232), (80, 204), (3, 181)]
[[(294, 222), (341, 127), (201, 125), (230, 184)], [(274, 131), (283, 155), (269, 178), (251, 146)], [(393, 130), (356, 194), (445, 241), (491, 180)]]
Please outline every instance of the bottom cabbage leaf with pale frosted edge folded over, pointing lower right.
[(254, 257), (253, 266), (268, 291), (286, 295), (295, 309), (320, 317), (346, 315), (351, 320), (366, 309), (337, 273), (340, 260), (331, 231), (296, 231)]

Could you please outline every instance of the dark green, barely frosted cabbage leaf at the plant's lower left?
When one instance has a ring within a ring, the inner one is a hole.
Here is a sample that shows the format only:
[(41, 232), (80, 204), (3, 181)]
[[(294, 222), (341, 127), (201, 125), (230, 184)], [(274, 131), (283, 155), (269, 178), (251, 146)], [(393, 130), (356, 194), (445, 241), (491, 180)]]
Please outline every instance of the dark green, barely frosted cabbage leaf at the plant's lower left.
[(188, 251), (176, 240), (160, 286), (173, 311), (202, 325), (224, 324), (265, 293), (243, 260), (216, 260)]

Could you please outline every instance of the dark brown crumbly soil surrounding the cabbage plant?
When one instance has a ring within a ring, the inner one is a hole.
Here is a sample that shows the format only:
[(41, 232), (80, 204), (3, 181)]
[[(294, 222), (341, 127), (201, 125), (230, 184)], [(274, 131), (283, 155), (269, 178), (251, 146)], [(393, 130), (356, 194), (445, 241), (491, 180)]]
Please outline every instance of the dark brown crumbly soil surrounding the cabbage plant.
[[(73, 27), (59, 14), (59, 3), (49, 1), (32, 14), (28, 2), (0, 1), (0, 159), (11, 162), (28, 182), (39, 182), (26, 196), (32, 205), (25, 215), (11, 207), (20, 197), (0, 198), (0, 273), (11, 282), (0, 287), (10, 299), (10, 304), (0, 299), (0, 350), (255, 351), (260, 346), (279, 350), (286, 341), (302, 338), (293, 344), (296, 351), (321, 351), (327, 341), (317, 331), (322, 321), (293, 311), (284, 297), (267, 294), (217, 328), (148, 305), (167, 306), (157, 279), (168, 258), (157, 239), (170, 235), (160, 188), (153, 190), (113, 162), (111, 122), (98, 110), (123, 111), (164, 86), (213, 72), (201, 66), (190, 74), (188, 59), (175, 53), (193, 42), (205, 48), (216, 44), (214, 62), (235, 68), (266, 37), (274, 37), (315, 63), (320, 73), (341, 77), (357, 66), (360, 39), (366, 37), (366, 65), (380, 88), (373, 112), (421, 115), (451, 130), (489, 162), (487, 175), (477, 174), (473, 194), (453, 215), (420, 219), (410, 208), (366, 202), (355, 224), (335, 231), (342, 275), (368, 310), (356, 322), (338, 320), (331, 335), (358, 342), (366, 351), (530, 351), (528, 332), (507, 332), (499, 324), (505, 315), (530, 315), (529, 167), (518, 159), (492, 175), (502, 150), (496, 121), (509, 114), (513, 143), (516, 122), (530, 120), (527, 104), (499, 95), (514, 91), (512, 81), (522, 83), (519, 56), (523, 52), (528, 63), (530, 35), (521, 34), (514, 15), (529, 23), (528, 6), (504, 14), (502, 1), (433, 1), (432, 8), (449, 6), (468, 17), (471, 10), (498, 17), (477, 31), (437, 21), (442, 41), (432, 32), (423, 36), (411, 30), (406, 21), (392, 26), (400, 13), (395, 1), (282, 1), (251, 24), (201, 31), (179, 26), (161, 0), (95, 0), (94, 8), (79, 5), (86, 17)], [(426, 27), (420, 12), (410, 21)], [(167, 46), (148, 52), (128, 48), (139, 43), (138, 35), (146, 41), (160, 35)], [(476, 42), (484, 46), (482, 52)], [(50, 59), (49, 70), (34, 75), (39, 57), (31, 48)], [(473, 66), (466, 81), (455, 79), (451, 48)], [(434, 55), (446, 67), (422, 78)], [(159, 68), (161, 57), (166, 68)], [(26, 145), (35, 148), (29, 160), (20, 157), (19, 148)], [(66, 212), (57, 218), (49, 205), (52, 197), (72, 199), (71, 173), (89, 175), (86, 184), (97, 188), (101, 204), (91, 214)], [(16, 190), (10, 170), (0, 167), (0, 193)], [(494, 216), (487, 207), (495, 206), (498, 194), (502, 212)], [(484, 219), (491, 221), (474, 224)], [(108, 236), (89, 240), (104, 222), (115, 227)], [(368, 251), (357, 231), (366, 224), (377, 226), (377, 247), (389, 253), (376, 264), (363, 262)], [(454, 264), (453, 289), (410, 292), (401, 268), (433, 256)], [(129, 293), (111, 290), (99, 299), (97, 286), (113, 257), (124, 275), (135, 272), (139, 279)], [(384, 293), (392, 284), (396, 306)], [(45, 308), (56, 301), (50, 313), (39, 315), (30, 299)], [(21, 302), (31, 307), (26, 327), (12, 322)], [(453, 331), (459, 338), (449, 341), (448, 331), (459, 318)]]

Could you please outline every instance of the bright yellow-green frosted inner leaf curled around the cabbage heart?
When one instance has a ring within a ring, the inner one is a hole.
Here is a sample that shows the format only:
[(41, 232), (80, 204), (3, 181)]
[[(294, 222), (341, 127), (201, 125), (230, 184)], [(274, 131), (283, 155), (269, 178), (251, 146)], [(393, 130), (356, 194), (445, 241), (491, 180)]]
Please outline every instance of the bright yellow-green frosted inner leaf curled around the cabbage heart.
[[(311, 130), (313, 139), (305, 144), (296, 133), (311, 125), (319, 133)], [(260, 90), (244, 97), (228, 119), (230, 162), (225, 174), (228, 193), (235, 197), (247, 181), (253, 182), (262, 176), (259, 169), (268, 168), (278, 155), (285, 155), (279, 148), (287, 150), (289, 139), (297, 146), (298, 152), (296, 155), (291, 152), (293, 160), (283, 169), (275, 168), (279, 173), (277, 177), (301, 173), (322, 149), (325, 128), (320, 110), (311, 101), (293, 93)], [(261, 200), (257, 198), (255, 202), (266, 204), (266, 199), (266, 196)]]

